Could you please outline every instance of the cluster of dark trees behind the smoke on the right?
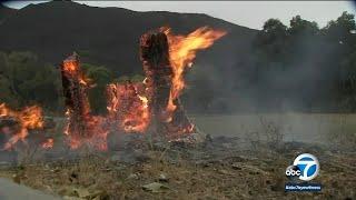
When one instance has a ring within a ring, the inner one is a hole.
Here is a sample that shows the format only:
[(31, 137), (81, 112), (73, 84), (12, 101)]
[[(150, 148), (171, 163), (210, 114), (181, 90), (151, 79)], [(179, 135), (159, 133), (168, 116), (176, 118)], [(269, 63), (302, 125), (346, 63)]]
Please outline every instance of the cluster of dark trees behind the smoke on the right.
[(280, 104), (294, 100), (297, 110), (303, 102), (306, 111), (355, 111), (355, 16), (347, 12), (322, 29), (300, 16), (289, 27), (267, 20), (254, 43), (260, 93), (267, 89)]

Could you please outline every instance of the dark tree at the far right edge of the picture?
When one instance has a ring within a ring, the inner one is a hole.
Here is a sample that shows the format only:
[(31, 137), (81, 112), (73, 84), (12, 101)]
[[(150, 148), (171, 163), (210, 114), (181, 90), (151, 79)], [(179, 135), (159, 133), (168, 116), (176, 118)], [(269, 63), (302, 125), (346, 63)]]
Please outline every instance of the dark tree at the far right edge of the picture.
[(336, 20), (332, 20), (323, 29), (325, 41), (335, 46), (329, 64), (337, 69), (336, 90), (337, 100), (342, 109), (356, 111), (356, 23), (355, 16), (343, 12)]

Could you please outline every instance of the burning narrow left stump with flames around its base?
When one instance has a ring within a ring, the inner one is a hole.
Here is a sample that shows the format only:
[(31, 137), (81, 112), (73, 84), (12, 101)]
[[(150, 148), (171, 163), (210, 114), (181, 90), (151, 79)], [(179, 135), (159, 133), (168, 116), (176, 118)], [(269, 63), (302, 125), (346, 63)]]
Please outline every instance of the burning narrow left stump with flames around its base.
[(98, 150), (106, 150), (109, 132), (107, 120), (90, 113), (87, 90), (91, 86), (81, 71), (76, 53), (63, 61), (61, 73), (68, 118), (65, 134), (70, 148), (78, 149), (88, 144)]

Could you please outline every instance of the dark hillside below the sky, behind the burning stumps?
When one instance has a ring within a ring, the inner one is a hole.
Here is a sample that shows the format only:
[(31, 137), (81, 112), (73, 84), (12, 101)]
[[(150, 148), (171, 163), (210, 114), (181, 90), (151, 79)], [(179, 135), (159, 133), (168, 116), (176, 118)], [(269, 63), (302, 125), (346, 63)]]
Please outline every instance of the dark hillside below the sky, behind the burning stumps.
[(120, 74), (141, 72), (139, 38), (161, 26), (171, 27), (176, 33), (188, 33), (202, 26), (226, 30), (228, 34), (197, 60), (221, 71), (248, 56), (257, 33), (207, 14), (136, 12), (71, 1), (29, 4), (18, 11), (1, 7), (0, 13), (0, 51), (32, 51), (53, 64), (77, 51), (86, 62), (103, 64)]

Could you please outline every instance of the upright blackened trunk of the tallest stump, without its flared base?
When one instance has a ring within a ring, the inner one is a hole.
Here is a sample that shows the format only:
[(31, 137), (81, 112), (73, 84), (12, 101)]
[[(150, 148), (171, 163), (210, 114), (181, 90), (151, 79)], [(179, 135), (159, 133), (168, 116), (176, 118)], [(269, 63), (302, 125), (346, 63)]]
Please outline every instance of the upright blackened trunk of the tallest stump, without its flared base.
[(165, 33), (149, 32), (140, 39), (140, 57), (146, 73), (146, 92), (156, 133), (167, 132), (165, 112), (169, 100), (170, 80), (168, 41)]

